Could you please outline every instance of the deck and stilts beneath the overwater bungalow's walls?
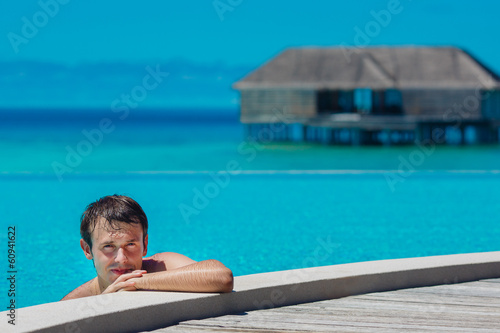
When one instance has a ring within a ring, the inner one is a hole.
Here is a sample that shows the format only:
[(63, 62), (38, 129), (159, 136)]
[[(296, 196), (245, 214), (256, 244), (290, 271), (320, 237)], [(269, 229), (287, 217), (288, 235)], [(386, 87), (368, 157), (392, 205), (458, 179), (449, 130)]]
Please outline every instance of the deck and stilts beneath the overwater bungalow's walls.
[(242, 117), (248, 138), (259, 142), (324, 144), (477, 144), (499, 142), (500, 121), (439, 116), (373, 116), (355, 113), (310, 118)]

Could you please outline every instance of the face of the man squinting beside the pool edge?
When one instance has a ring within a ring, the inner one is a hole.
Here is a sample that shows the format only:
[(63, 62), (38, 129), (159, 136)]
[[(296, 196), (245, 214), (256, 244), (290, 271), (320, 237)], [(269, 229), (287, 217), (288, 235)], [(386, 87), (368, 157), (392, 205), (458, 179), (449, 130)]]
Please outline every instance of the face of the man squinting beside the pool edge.
[(147, 236), (142, 240), (140, 224), (118, 222), (111, 228), (101, 219), (92, 232), (92, 252), (82, 240), (82, 248), (88, 259), (94, 260), (99, 284), (105, 288), (120, 275), (142, 268), (142, 257), (147, 252)]

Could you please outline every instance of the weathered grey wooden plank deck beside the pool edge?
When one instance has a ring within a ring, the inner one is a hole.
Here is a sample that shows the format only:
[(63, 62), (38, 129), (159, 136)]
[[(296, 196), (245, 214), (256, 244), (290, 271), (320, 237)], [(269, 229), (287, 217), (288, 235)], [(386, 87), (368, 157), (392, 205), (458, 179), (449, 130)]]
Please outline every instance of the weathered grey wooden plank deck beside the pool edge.
[(500, 279), (190, 320), (153, 332), (500, 332)]

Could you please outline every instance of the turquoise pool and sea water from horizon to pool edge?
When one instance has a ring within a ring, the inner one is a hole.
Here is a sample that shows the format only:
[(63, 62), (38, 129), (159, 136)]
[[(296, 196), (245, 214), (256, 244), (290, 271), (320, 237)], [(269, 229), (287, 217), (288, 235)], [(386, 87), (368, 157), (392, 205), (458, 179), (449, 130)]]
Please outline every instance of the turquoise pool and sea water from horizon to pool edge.
[[(0, 239), (16, 227), (18, 307), (57, 301), (95, 276), (79, 218), (113, 193), (143, 206), (149, 254), (214, 258), (235, 275), (500, 249), (497, 145), (264, 145), (246, 142), (233, 114), (112, 116), (0, 125)], [(83, 131), (104, 117), (114, 129), (85, 146)]]

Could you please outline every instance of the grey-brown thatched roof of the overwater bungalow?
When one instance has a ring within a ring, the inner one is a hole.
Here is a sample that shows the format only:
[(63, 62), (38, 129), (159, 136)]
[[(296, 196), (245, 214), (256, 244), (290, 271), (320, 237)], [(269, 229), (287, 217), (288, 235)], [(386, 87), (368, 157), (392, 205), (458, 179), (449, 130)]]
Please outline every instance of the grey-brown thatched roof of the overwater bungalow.
[(332, 47), (285, 50), (234, 87), (494, 89), (500, 81), (455, 47)]

